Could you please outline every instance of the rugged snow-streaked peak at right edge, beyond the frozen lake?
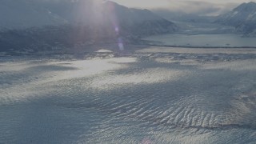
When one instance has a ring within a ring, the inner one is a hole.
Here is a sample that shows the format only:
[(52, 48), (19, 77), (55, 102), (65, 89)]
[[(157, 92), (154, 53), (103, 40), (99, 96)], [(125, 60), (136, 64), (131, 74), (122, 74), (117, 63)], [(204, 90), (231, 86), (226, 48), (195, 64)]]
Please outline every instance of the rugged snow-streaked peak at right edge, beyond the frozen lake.
[(229, 13), (218, 16), (216, 22), (234, 26), (243, 34), (253, 34), (256, 30), (256, 3), (242, 3)]

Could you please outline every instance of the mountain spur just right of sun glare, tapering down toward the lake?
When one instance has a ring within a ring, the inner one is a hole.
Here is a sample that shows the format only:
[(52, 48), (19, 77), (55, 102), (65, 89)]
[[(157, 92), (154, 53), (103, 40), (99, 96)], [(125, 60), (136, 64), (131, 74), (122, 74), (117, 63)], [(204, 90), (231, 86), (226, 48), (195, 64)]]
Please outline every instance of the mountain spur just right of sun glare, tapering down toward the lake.
[(114, 2), (106, 2), (105, 7), (107, 11), (114, 7), (112, 12), (107, 13), (108, 17), (113, 18), (114, 15), (120, 29), (131, 31), (131, 34), (165, 34), (178, 30), (173, 22), (153, 14), (150, 10), (129, 9)]

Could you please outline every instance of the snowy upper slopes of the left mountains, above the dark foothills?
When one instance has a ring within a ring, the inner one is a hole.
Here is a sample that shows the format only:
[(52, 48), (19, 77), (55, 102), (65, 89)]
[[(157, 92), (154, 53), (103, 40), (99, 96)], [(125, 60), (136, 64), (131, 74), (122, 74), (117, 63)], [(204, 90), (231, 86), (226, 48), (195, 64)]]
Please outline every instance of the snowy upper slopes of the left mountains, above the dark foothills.
[(1, 0), (0, 30), (42, 26), (114, 27), (123, 33), (162, 34), (177, 30), (174, 23), (150, 10), (130, 9), (99, 0)]

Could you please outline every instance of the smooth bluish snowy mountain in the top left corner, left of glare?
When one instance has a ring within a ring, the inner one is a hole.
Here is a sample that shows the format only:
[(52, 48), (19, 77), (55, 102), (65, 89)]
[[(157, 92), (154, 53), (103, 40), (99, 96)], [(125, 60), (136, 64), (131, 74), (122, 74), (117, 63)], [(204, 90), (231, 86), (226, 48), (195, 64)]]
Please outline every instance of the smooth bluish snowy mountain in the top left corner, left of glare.
[(1, 0), (0, 18), (0, 30), (58, 26), (66, 23), (65, 19), (27, 0)]

